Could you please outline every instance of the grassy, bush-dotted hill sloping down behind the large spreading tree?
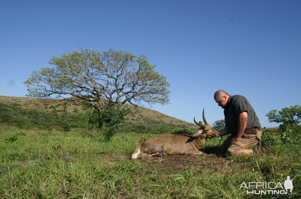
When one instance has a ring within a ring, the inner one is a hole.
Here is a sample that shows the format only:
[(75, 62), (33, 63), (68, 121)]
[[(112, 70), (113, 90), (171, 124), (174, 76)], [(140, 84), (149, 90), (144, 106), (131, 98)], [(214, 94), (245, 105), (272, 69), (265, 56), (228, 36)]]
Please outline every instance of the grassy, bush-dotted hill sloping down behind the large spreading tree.
[[(128, 106), (132, 113), (126, 116), (123, 129), (128, 132), (164, 133), (171, 128), (197, 129), (197, 126), (149, 108)], [(73, 128), (86, 128), (82, 120), (85, 111), (81, 106), (67, 105), (62, 102), (44, 105), (27, 97), (0, 96), (0, 122), (19, 128), (61, 130), (68, 124)]]

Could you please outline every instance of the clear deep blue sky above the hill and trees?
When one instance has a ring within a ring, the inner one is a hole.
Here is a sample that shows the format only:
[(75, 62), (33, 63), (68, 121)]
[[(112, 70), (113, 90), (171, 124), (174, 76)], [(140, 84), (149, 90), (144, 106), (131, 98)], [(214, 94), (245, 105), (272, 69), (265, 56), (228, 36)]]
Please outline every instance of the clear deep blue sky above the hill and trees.
[(265, 114), (300, 105), (301, 1), (0, 0), (0, 95), (24, 97), (32, 70), (80, 48), (144, 54), (171, 83), (155, 109), (223, 119), (213, 94), (247, 97)]

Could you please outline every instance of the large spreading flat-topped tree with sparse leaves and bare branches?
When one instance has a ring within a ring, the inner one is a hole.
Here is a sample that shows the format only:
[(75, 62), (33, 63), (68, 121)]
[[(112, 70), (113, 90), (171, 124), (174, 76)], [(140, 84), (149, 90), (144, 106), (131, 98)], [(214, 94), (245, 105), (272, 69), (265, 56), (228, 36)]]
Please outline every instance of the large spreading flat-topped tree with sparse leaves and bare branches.
[(145, 55), (82, 49), (52, 57), (48, 63), (54, 67), (33, 71), (24, 82), (28, 87), (26, 96), (64, 100), (73, 105), (91, 104), (98, 112), (100, 128), (101, 111), (106, 107), (141, 105), (142, 101), (149, 105), (169, 103), (170, 84)]

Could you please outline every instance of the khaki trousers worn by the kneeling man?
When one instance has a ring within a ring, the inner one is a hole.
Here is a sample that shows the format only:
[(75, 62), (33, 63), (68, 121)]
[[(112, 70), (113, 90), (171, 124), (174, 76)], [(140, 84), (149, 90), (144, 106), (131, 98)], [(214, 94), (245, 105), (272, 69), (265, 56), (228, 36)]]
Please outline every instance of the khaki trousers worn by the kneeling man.
[(241, 140), (231, 144), (233, 136), (228, 137), (222, 144), (221, 148), (227, 150), (228, 153), (238, 153), (242, 149), (250, 149), (254, 147), (261, 139), (262, 131), (257, 131), (256, 135), (243, 134)]

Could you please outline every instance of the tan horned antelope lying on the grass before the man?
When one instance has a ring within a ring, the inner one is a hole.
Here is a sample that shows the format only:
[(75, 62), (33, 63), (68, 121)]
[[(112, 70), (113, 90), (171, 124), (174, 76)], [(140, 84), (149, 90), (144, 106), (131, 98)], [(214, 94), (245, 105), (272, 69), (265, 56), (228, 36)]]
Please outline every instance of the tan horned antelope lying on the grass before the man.
[(199, 149), (205, 144), (207, 135), (218, 137), (219, 133), (212, 129), (210, 124), (207, 123), (203, 110), (203, 122), (197, 123), (200, 128), (194, 135), (185, 134), (162, 134), (156, 135), (141, 142), (132, 154), (132, 159), (140, 157), (151, 157), (164, 155), (187, 155), (197, 154), (201, 155)]

